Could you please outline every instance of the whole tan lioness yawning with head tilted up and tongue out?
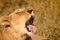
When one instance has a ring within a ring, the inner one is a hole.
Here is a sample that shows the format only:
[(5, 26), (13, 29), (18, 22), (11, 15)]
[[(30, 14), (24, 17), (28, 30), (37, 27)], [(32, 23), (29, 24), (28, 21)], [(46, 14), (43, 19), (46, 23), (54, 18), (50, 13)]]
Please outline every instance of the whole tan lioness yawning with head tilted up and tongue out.
[(31, 8), (17, 9), (8, 16), (0, 17), (0, 40), (31, 40), (36, 32)]

